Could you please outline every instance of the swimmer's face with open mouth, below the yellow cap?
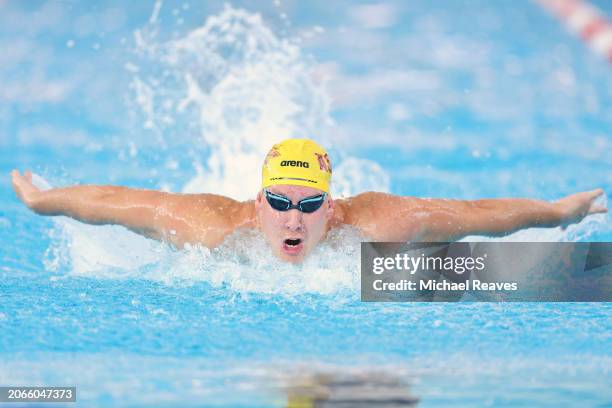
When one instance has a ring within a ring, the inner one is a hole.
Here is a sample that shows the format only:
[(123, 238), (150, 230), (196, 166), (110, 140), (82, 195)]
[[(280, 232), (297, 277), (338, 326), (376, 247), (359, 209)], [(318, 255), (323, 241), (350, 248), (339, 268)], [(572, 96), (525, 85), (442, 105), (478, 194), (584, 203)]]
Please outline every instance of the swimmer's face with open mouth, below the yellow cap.
[[(292, 204), (322, 194), (321, 190), (300, 186), (270, 186), (269, 192), (287, 197)], [(272, 247), (272, 252), (287, 262), (301, 262), (325, 238), (333, 216), (334, 202), (327, 195), (323, 205), (312, 213), (297, 209), (278, 211), (270, 206), (263, 191), (255, 200), (258, 226)]]

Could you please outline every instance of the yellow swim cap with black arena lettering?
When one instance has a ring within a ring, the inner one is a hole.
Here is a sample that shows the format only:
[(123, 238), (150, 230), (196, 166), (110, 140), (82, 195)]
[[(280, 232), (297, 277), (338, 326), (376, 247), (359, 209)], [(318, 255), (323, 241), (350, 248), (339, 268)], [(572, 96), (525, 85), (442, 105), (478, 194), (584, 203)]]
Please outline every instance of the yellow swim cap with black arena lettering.
[(261, 187), (290, 184), (329, 193), (331, 162), (321, 146), (308, 139), (287, 139), (272, 146), (261, 172)]

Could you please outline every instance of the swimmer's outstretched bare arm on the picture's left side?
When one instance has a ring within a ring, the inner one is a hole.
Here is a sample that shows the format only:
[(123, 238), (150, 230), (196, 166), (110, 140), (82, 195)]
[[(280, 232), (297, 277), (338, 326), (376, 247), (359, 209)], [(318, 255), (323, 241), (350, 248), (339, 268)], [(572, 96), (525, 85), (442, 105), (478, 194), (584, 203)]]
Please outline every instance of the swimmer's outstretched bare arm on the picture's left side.
[(214, 247), (238, 228), (245, 203), (213, 194), (171, 194), (120, 186), (79, 185), (41, 191), (31, 174), (12, 172), (17, 196), (41, 215), (64, 215), (94, 224), (122, 225), (182, 248)]

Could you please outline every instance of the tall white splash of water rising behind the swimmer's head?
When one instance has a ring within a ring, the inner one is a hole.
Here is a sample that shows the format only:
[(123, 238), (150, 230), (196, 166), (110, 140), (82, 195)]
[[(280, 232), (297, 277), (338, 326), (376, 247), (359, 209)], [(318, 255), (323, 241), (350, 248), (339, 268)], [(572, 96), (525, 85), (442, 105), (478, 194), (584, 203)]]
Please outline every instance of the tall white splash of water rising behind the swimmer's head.
[[(184, 37), (163, 42), (158, 33), (149, 24), (135, 34), (143, 61), (130, 63), (132, 91), (141, 123), (164, 145), (186, 127), (205, 141), (205, 162), (202, 152), (178, 158), (196, 158), (189, 163), (195, 175), (183, 192), (253, 198), (261, 163), (274, 143), (307, 137), (332, 146), (325, 136), (333, 125), (330, 98), (316, 64), (302, 55), (297, 40), (276, 36), (259, 14), (226, 6)], [(343, 191), (375, 166), (360, 160), (364, 166), (352, 168), (350, 180), (343, 180), (341, 171), (334, 175)], [(334, 164), (336, 170), (345, 166)], [(379, 188), (388, 190), (388, 177), (378, 173)]]

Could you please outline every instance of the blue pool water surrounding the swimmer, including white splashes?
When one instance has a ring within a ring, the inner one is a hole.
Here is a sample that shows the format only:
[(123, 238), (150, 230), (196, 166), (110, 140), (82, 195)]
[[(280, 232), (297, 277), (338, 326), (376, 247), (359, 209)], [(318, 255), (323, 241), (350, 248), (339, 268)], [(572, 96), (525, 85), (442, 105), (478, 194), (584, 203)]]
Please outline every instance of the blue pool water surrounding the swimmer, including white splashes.
[[(14, 196), (19, 168), (248, 198), (262, 152), (299, 133), (330, 147), (337, 195), (610, 199), (605, 60), (535, 3), (381, 4), (0, 3), (0, 384), (267, 407), (304, 373), (385, 372), (423, 407), (612, 405), (608, 304), (361, 303), (348, 232), (296, 269), (248, 239), (240, 259), (177, 253)], [(612, 241), (612, 223), (507, 239)]]

